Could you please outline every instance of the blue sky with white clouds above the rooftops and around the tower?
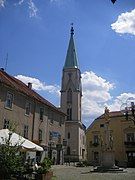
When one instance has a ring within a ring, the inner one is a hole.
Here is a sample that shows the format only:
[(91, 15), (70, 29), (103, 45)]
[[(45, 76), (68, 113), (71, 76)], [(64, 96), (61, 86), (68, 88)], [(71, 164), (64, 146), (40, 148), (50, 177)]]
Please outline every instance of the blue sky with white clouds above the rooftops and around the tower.
[(71, 23), (88, 127), (135, 98), (135, 0), (0, 0), (0, 67), (59, 106)]

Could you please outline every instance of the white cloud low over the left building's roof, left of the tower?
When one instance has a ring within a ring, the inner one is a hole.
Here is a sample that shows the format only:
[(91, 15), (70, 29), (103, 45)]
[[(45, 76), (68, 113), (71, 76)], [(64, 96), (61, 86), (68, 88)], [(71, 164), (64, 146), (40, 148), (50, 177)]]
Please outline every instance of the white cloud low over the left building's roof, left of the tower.
[(23, 76), (23, 75), (17, 75), (17, 76), (15, 76), (15, 78), (21, 80), (26, 85), (28, 84), (28, 82), (32, 83), (32, 88), (36, 91), (46, 91), (51, 94), (55, 94), (57, 96), (59, 96), (59, 94), (60, 94), (60, 92), (59, 92), (60, 87), (58, 85), (47, 85), (45, 82), (41, 82), (37, 78)]

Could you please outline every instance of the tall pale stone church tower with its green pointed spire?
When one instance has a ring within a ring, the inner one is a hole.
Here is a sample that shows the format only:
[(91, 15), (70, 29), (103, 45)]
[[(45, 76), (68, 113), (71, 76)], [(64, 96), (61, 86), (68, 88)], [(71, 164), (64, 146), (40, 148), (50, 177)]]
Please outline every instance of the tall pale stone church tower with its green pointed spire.
[(72, 26), (61, 84), (61, 110), (67, 114), (65, 122), (65, 138), (67, 140), (65, 161), (72, 162), (85, 159), (85, 126), (81, 119), (81, 98), (81, 72)]

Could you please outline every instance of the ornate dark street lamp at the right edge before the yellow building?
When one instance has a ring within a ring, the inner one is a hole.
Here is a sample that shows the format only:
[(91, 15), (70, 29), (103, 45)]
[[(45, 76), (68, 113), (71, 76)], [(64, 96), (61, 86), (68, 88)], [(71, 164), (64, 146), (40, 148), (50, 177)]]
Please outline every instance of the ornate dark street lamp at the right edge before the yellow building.
[(128, 98), (126, 103), (121, 105), (120, 110), (125, 115), (126, 120), (132, 120), (135, 125), (135, 98)]

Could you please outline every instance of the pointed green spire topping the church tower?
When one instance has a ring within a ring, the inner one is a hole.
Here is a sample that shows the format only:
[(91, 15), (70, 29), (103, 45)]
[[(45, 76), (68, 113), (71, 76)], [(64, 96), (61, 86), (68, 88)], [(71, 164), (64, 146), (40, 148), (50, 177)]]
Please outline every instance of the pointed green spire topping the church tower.
[(67, 50), (67, 56), (66, 56), (64, 69), (79, 67), (76, 50), (75, 50), (74, 38), (73, 38), (73, 35), (74, 35), (73, 23), (71, 24), (70, 32), (71, 32), (71, 36), (70, 36), (69, 46), (68, 46), (68, 50)]

